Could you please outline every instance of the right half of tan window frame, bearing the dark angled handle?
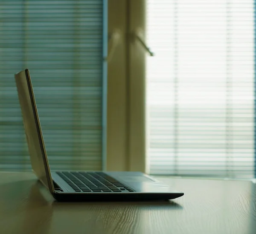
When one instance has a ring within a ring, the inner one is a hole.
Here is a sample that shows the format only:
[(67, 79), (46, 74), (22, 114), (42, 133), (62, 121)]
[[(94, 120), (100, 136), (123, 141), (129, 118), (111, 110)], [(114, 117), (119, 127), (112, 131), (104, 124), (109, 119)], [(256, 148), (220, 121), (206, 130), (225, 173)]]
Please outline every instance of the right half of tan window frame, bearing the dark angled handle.
[(139, 40), (145, 42), (145, 0), (129, 0), (127, 44), (128, 90), (128, 165), (131, 171), (146, 169), (145, 155), (145, 55), (147, 52)]

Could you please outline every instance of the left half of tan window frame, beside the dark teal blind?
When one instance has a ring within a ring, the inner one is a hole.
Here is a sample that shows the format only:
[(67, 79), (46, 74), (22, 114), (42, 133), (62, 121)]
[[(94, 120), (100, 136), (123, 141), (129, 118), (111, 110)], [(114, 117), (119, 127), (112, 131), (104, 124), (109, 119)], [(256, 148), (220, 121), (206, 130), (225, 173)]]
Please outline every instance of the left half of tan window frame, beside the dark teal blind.
[[(108, 0), (107, 170), (128, 170), (127, 143), (127, 1)], [(119, 35), (118, 43), (111, 40)]]

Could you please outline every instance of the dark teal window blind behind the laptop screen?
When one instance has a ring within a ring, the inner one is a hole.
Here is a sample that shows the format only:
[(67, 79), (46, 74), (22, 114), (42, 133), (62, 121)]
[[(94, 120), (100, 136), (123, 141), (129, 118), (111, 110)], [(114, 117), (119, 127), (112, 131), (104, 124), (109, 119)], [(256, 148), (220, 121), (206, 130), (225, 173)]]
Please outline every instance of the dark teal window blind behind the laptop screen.
[(0, 0), (0, 169), (31, 168), (14, 74), (29, 68), (49, 164), (102, 169), (103, 0)]

